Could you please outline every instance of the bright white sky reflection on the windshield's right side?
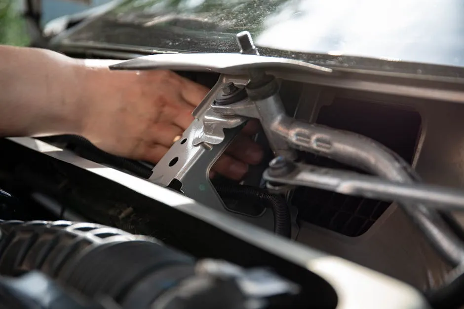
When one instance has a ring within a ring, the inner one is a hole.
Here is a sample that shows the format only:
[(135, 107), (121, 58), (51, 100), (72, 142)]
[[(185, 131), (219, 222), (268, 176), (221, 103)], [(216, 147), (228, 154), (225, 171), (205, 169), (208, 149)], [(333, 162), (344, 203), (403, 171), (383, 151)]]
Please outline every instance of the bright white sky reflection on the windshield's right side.
[[(292, 51), (460, 62), (462, 3), (457, 0), (289, 1), (265, 21), (260, 46)], [(462, 60), (461, 60), (462, 61)]]

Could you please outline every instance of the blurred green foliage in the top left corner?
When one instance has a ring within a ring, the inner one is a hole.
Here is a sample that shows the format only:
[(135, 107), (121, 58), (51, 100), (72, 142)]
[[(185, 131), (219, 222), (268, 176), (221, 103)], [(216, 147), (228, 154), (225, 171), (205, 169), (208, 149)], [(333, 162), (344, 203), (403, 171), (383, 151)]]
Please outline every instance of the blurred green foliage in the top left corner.
[(26, 23), (17, 7), (18, 0), (0, 0), (0, 44), (25, 46), (29, 39)]

